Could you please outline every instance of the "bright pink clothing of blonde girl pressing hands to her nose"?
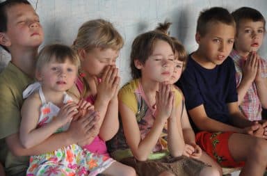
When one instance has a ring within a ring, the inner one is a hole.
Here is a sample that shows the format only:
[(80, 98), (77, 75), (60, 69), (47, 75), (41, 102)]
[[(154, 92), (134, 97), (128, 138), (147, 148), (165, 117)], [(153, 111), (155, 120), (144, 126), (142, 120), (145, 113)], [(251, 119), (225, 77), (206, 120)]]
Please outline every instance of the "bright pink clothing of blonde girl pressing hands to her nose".
[[(83, 92), (83, 82), (81, 81), (81, 79), (79, 77), (76, 79), (75, 84), (79, 90), (79, 93), (82, 93)], [(95, 97), (92, 95), (89, 95), (88, 97), (86, 97), (86, 101), (90, 102), (91, 104), (95, 104)], [(106, 148), (106, 143), (99, 136), (95, 137), (94, 141), (92, 141), (92, 143), (90, 143), (89, 145), (83, 146), (83, 148), (85, 148), (86, 150), (89, 150), (90, 152), (97, 153), (97, 154), (103, 154), (103, 155), (109, 157), (108, 150)]]

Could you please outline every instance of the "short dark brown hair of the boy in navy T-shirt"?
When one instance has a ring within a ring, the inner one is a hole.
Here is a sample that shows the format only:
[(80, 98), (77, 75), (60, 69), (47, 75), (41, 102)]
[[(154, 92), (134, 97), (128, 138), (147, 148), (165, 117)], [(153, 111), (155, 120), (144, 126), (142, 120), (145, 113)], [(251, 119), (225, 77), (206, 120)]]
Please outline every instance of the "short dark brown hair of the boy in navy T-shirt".
[(221, 22), (223, 24), (231, 25), (236, 27), (234, 17), (225, 8), (213, 7), (203, 10), (197, 19), (197, 33), (204, 36), (207, 34), (209, 24), (212, 22)]

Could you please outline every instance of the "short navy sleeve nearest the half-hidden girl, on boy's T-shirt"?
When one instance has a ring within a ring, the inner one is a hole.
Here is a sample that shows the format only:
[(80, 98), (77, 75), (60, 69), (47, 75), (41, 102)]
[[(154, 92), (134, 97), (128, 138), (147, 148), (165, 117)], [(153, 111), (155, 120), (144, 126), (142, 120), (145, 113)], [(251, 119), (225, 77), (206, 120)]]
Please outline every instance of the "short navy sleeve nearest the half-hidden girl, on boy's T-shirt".
[(184, 93), (184, 97), (186, 99), (186, 109), (191, 110), (203, 104), (204, 101), (198, 88), (193, 67), (186, 67), (186, 70), (184, 70), (181, 75), (177, 86), (179, 86)]

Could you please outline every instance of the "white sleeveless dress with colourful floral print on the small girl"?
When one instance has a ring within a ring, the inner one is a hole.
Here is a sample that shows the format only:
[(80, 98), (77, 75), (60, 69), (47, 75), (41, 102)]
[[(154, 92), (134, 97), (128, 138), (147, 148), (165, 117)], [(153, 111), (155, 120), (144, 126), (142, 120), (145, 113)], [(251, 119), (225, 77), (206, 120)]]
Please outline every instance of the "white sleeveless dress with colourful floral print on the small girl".
[[(42, 106), (40, 107), (40, 118), (38, 127), (51, 122), (58, 114), (60, 108), (51, 102), (46, 102), (40, 83), (33, 83), (24, 90), (27, 94), (39, 91)], [(65, 93), (63, 103), (71, 102), (72, 98)], [(55, 133), (65, 131), (70, 124), (60, 127)], [(31, 156), (27, 176), (33, 175), (97, 175), (111, 166), (113, 159), (101, 154), (94, 154), (83, 150), (79, 145), (72, 144), (61, 147), (53, 152)]]

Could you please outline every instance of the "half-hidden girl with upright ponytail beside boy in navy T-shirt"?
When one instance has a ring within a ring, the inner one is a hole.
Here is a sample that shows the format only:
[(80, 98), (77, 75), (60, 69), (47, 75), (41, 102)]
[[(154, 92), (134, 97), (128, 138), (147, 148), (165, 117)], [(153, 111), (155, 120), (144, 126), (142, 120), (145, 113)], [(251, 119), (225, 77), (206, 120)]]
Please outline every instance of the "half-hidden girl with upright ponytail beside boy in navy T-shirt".
[[(170, 22), (165, 22), (164, 24), (159, 24), (159, 26), (156, 28), (155, 31), (159, 31), (162, 33), (168, 34), (168, 29), (170, 27)], [(176, 39), (172, 37), (172, 42), (175, 47), (175, 68), (173, 70), (172, 76), (170, 77), (170, 80), (168, 83), (174, 84), (176, 83), (179, 78), (181, 77), (181, 73), (186, 68), (186, 61), (187, 61), (187, 54), (186, 49), (184, 49), (184, 46), (181, 45), (181, 43)], [(207, 155), (206, 152), (202, 152), (202, 149), (199, 145), (195, 143), (195, 133), (190, 125), (190, 122), (188, 120), (188, 115), (186, 111), (186, 107), (184, 106), (184, 95), (181, 92), (181, 90), (174, 85), (174, 88), (176, 88), (179, 93), (182, 95), (182, 101), (181, 101), (181, 129), (183, 131), (184, 141), (185, 141), (185, 150), (184, 155), (186, 157), (192, 157), (195, 159), (199, 159), (200, 161), (203, 161), (204, 163), (209, 163), (209, 165), (215, 167), (219, 172), (220, 175), (222, 175), (222, 168)]]

